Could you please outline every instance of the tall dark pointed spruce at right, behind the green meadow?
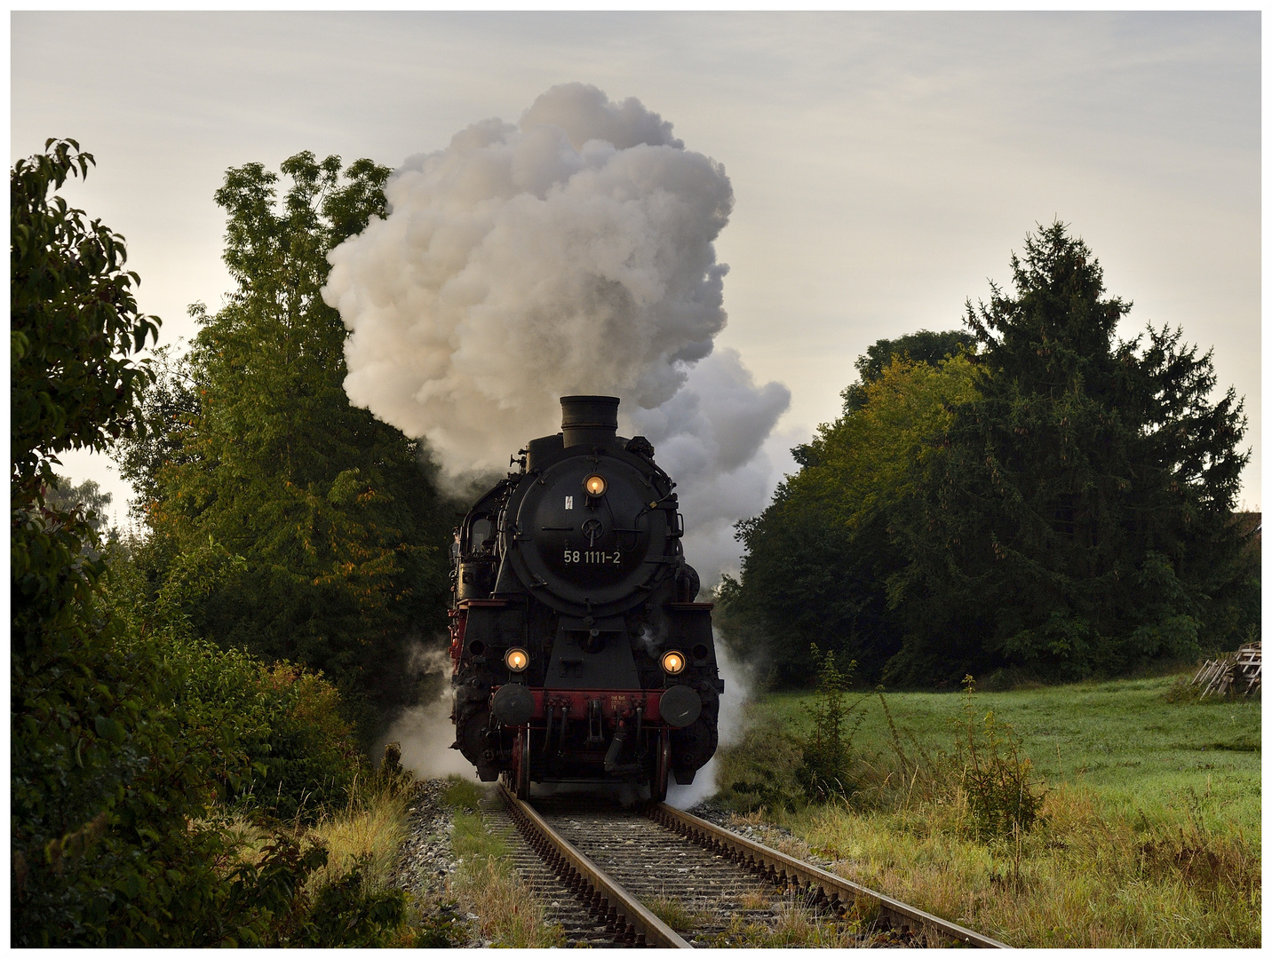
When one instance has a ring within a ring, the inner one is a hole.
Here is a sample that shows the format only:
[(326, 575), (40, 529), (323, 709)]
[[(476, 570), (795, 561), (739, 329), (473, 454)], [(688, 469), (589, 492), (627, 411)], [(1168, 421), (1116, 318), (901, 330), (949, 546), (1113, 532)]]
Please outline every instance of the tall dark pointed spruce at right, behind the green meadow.
[(893, 521), (912, 566), (889, 675), (1076, 677), (1233, 642), (1253, 576), (1231, 513), (1241, 403), (1210, 401), (1211, 354), (1179, 331), (1116, 340), (1131, 304), (1065, 225), (1011, 268), (1014, 295), (968, 304), (983, 375), (944, 474)]

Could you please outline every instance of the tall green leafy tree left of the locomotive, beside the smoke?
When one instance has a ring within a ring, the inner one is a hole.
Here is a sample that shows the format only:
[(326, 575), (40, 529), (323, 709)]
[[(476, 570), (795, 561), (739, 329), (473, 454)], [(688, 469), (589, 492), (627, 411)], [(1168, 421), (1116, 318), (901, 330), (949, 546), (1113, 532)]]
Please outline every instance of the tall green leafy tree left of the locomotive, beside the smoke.
[[(444, 627), (453, 516), (418, 444), (350, 406), (327, 252), (383, 214), (389, 170), (301, 153), (233, 168), (216, 202), (237, 289), (148, 396), (150, 438), (121, 463), (148, 497), (155, 588), (206, 548), (242, 571), (187, 611), (196, 631), (322, 669), (364, 706), (410, 698), (408, 638)], [(369, 719), (364, 710), (363, 720)]]

